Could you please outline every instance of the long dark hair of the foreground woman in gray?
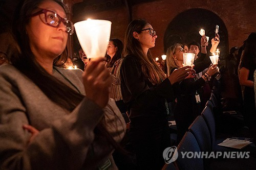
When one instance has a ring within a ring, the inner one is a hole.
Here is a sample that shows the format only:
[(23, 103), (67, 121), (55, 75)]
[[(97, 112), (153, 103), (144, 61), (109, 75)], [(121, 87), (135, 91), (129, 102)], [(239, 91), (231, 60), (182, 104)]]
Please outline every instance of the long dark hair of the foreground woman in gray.
[[(73, 111), (84, 98), (84, 95), (71, 89), (65, 83), (59, 81), (42, 68), (36, 61), (29, 45), (26, 25), (30, 21), (31, 13), (44, 1), (45, 0), (26, 0), (22, 1), (24, 3), (21, 2), (18, 5), (13, 21), (13, 35), (19, 46), (19, 55), (11, 56), (11, 63), (31, 79), (50, 100), (62, 108)], [(63, 5), (61, 1), (52, 1), (58, 3), (65, 10), (65, 5)], [(58, 58), (65, 59), (66, 56), (67, 54), (65, 54), (65, 57), (61, 55)], [(101, 122), (97, 125), (95, 133), (101, 134), (113, 145), (114, 148), (118, 148), (117, 143), (105, 130)]]

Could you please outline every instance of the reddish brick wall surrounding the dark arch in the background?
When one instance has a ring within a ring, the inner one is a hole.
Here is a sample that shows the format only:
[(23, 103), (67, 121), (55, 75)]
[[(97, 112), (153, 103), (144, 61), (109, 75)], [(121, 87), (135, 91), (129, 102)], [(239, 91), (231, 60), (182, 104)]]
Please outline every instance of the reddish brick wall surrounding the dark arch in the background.
[[(132, 6), (132, 17), (133, 19), (144, 18), (150, 21), (153, 28), (157, 31), (158, 38), (156, 46), (151, 51), (155, 57), (158, 57), (163, 54), (163, 38), (168, 24), (178, 14), (194, 8), (206, 9), (218, 15), (226, 26), (229, 48), (232, 46), (241, 46), (249, 33), (256, 31), (255, 4), (254, 1), (249, 0), (155, 0)], [(83, 14), (84, 18), (87, 18), (85, 17), (86, 15), (89, 14)], [(129, 24), (129, 13), (124, 4), (118, 8), (91, 13), (90, 15), (91, 18), (95, 19), (111, 20), (111, 37), (120, 38), (121, 40), (124, 39), (124, 32)]]

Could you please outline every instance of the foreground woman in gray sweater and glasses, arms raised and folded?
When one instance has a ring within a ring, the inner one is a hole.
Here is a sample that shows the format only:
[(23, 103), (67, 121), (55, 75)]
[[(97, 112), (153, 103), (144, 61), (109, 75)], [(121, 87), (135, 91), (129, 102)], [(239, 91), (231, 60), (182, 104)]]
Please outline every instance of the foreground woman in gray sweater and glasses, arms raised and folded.
[(17, 6), (19, 55), (0, 67), (0, 169), (118, 169), (111, 155), (125, 123), (103, 59), (84, 72), (53, 65), (74, 31), (66, 17), (58, 0)]

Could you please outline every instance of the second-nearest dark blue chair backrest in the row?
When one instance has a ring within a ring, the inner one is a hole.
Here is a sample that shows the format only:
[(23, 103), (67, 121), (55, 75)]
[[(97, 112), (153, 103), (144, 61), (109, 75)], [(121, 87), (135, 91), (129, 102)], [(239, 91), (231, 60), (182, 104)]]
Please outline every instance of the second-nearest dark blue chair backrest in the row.
[[(209, 129), (205, 123), (204, 118), (199, 115), (194, 120), (194, 122), (188, 127), (189, 132), (191, 132), (197, 139), (199, 148), (202, 152), (211, 152), (211, 138)], [(203, 159), (204, 169), (209, 169), (210, 159)]]

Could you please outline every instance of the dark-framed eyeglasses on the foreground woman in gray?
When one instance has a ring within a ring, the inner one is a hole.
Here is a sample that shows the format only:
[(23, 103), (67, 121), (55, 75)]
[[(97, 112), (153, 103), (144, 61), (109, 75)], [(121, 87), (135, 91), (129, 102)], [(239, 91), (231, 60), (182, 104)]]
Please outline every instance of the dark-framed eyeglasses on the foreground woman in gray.
[[(41, 8), (40, 8), (41, 9)], [(40, 11), (30, 15), (31, 17), (39, 15), (39, 14), (45, 14), (45, 23), (48, 26), (51, 27), (59, 27), (60, 23), (63, 22), (64, 25), (66, 26), (67, 32), (72, 35), (74, 33), (74, 25), (73, 22), (70, 21), (67, 18), (62, 18), (60, 17), (56, 12), (50, 11), (48, 9), (41, 9)]]

